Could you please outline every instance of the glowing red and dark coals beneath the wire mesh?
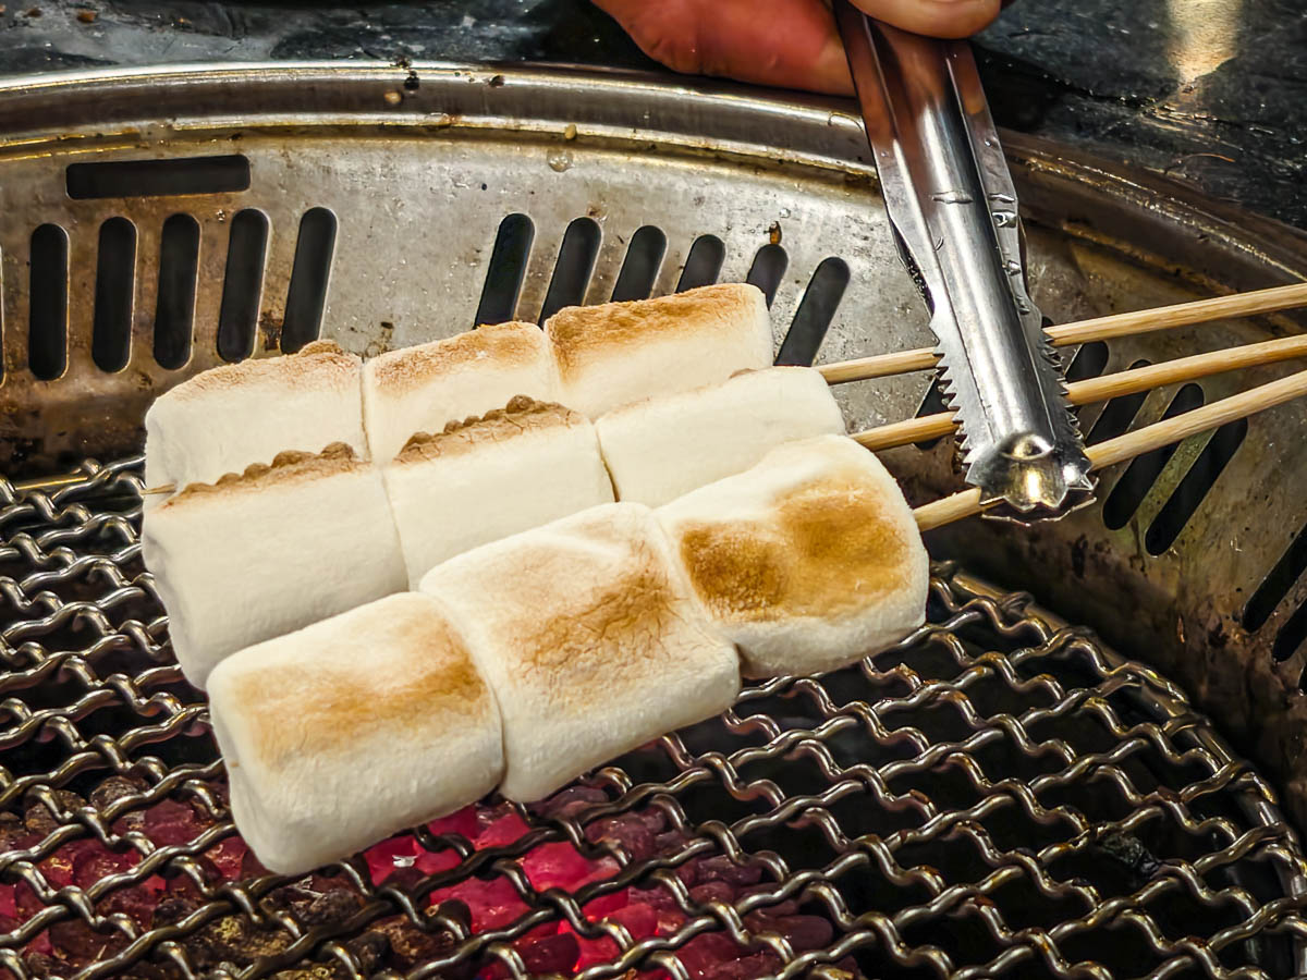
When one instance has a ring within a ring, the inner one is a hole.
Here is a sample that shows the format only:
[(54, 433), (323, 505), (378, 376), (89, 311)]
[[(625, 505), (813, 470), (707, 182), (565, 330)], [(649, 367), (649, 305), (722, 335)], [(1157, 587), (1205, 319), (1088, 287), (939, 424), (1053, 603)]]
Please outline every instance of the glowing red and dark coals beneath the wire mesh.
[[(89, 801), (69, 792), (59, 792), (55, 798), (65, 814), (85, 808), (88, 802), (102, 814), (116, 813), (110, 809), (115, 801), (136, 797), (144, 789), (144, 783), (111, 776), (90, 794)], [(214, 802), (225, 806), (226, 787), (208, 784), (208, 789)], [(604, 802), (608, 802), (608, 797), (601, 791), (572, 787), (537, 805), (533, 813), (545, 819), (572, 818)], [(156, 848), (191, 844), (212, 831), (218, 822), (199, 801), (162, 800), (112, 819), (112, 832), (120, 839), (136, 841), (139, 847), (111, 849), (94, 836), (80, 838), (60, 845), (35, 866), (55, 891), (68, 885), (85, 890), (95, 882), (136, 868), (145, 860), (142, 851), (152, 849), (146, 840)], [(21, 821), (12, 814), (0, 818), (0, 849), (34, 848), (50, 832), (68, 823), (69, 821), (51, 813), (46, 804), (35, 802), (26, 809)], [(501, 804), (465, 808), (434, 821), (426, 830), (438, 836), (451, 835), (455, 840), (461, 838), (473, 852), (478, 852), (511, 847), (532, 827), (511, 805)], [(665, 815), (656, 808), (593, 819), (586, 826), (586, 836), (592, 844), (606, 844), (625, 852), (633, 861), (674, 856), (687, 840), (684, 834), (668, 827)], [(363, 855), (363, 860), (372, 886), (399, 887), (408, 894), (416, 894), (417, 886), (430, 875), (457, 868), (463, 861), (454, 847), (431, 851), (413, 834), (376, 844)], [(537, 844), (514, 864), (537, 892), (559, 889), (575, 894), (583, 886), (608, 881), (621, 870), (617, 858), (587, 857), (567, 841)], [(95, 911), (102, 916), (124, 916), (141, 932), (183, 924), (213, 899), (214, 889), (227, 882), (268, 874), (244, 841), (231, 835), (193, 857), (173, 858), (161, 865), (159, 870), (166, 874), (149, 874), (139, 882), (110, 887), (98, 899)], [(203, 890), (192, 873), (203, 881)], [(725, 856), (693, 857), (676, 866), (674, 874), (687, 889), (690, 902), (698, 906), (736, 903), (752, 891), (770, 887), (763, 882), (761, 868), (740, 866)], [(205, 891), (209, 894), (205, 895)], [(315, 874), (268, 891), (259, 903), (260, 911), (269, 913), (267, 923), (257, 923), (244, 915), (227, 915), (190, 929), (179, 943), (196, 971), (212, 970), (223, 963), (240, 967), (259, 956), (277, 955), (293, 941), (291, 934), (277, 924), (277, 913), (290, 913), (307, 930), (344, 923), (359, 912), (367, 900), (349, 874)], [(0, 932), (20, 928), (47, 904), (25, 881), (0, 885)], [(456, 920), (471, 933), (508, 928), (529, 911), (531, 906), (502, 873), (493, 873), (488, 878), (468, 877), (435, 889), (425, 899), (426, 916)], [(623, 887), (600, 895), (588, 902), (583, 912), (591, 923), (621, 925), (633, 942), (672, 936), (687, 920), (672, 890), (655, 881), (647, 882), (644, 887)], [(745, 916), (745, 925), (750, 930), (779, 933), (796, 953), (823, 947), (833, 937), (831, 924), (826, 919), (800, 913), (795, 902), (752, 912)], [(72, 976), (93, 962), (116, 955), (129, 941), (123, 929), (98, 932), (81, 917), (69, 916), (39, 932), (24, 949), (24, 959), (33, 975)], [(345, 941), (344, 946), (367, 971), (406, 971), (448, 955), (456, 943), (456, 937), (435, 923), (430, 929), (423, 929), (408, 916), (395, 915), (372, 920), (366, 930)], [(574, 975), (596, 963), (609, 962), (621, 953), (613, 938), (583, 936), (563, 917), (528, 930), (511, 945), (531, 973)], [(695, 936), (678, 945), (676, 955), (695, 980), (745, 980), (780, 967), (780, 960), (774, 954), (742, 947), (721, 932)], [(332, 964), (328, 970), (345, 975), (342, 966)], [(182, 976), (179, 967), (163, 960), (137, 963), (131, 972), (132, 976), (152, 980), (179, 980)], [(315, 971), (315, 975), (320, 973), (322, 967)], [(474, 963), (456, 973), (467, 980), (501, 980), (510, 971), (502, 960), (486, 956), (480, 960), (480, 966)], [(0, 970), (0, 975), (10, 976), (4, 970)], [(657, 980), (665, 975), (663, 970), (648, 970), (639, 976)], [(308, 971), (293, 968), (276, 976), (282, 980), (306, 980)]]

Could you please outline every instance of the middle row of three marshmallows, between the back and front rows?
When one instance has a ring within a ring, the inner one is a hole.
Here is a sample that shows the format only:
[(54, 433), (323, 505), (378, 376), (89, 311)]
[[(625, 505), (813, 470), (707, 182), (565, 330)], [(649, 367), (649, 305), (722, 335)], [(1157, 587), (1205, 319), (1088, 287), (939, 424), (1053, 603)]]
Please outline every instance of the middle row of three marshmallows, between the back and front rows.
[(843, 431), (829, 385), (806, 367), (746, 371), (597, 425), (516, 396), (412, 436), (380, 468), (340, 444), (318, 461), (291, 453), (188, 485), (146, 511), (144, 557), (178, 662), (203, 687), (242, 647), (417, 588), (477, 545), (614, 499), (657, 506), (774, 446)]

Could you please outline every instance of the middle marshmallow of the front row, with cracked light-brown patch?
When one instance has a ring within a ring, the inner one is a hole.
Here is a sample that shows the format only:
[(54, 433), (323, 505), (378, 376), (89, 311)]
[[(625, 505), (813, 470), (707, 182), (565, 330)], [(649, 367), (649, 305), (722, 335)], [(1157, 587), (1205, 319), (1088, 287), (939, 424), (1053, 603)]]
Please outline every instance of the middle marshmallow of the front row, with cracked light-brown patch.
[(711, 629), (648, 507), (610, 503), (451, 558), (422, 579), (503, 712), (510, 800), (729, 707), (735, 648)]

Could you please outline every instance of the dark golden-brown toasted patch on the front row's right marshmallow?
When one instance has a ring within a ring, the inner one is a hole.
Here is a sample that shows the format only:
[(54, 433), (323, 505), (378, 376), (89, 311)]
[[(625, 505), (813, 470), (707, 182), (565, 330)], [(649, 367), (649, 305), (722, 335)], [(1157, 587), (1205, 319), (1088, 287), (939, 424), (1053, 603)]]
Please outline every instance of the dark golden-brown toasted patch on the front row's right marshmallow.
[(856, 473), (787, 494), (765, 520), (677, 531), (695, 591), (724, 619), (838, 617), (908, 585), (912, 542)]

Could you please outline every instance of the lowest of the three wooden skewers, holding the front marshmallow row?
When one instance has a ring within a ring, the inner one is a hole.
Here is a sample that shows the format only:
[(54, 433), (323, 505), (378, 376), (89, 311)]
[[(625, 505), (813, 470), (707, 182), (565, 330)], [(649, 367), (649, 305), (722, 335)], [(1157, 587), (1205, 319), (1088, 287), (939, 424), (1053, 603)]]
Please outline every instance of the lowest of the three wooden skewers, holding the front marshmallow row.
[[(1255, 416), (1303, 395), (1307, 395), (1307, 371), (1298, 371), (1287, 378), (1260, 384), (1175, 418), (1155, 422), (1133, 433), (1090, 446), (1086, 448), (1089, 461), (1093, 469), (1103, 469), (1115, 463), (1124, 463), (1145, 452), (1188, 439), (1191, 435), (1205, 433), (1209, 429), (1217, 429), (1227, 422)], [(932, 500), (918, 507), (914, 514), (916, 515), (916, 525), (921, 531), (931, 531), (980, 514), (983, 510), (985, 507), (980, 504), (980, 490), (972, 489)]]

